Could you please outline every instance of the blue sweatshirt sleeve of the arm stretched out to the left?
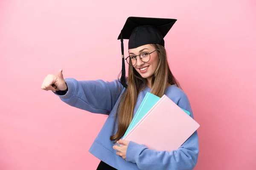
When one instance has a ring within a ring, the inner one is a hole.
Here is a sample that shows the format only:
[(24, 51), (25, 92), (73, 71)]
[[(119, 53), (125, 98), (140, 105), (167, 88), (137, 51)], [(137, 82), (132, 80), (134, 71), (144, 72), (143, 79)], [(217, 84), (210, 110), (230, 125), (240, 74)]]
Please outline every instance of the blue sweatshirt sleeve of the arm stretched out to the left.
[(65, 79), (66, 93), (55, 93), (60, 99), (70, 106), (91, 113), (108, 115), (115, 105), (122, 91), (118, 80), (105, 82), (103, 80), (78, 81), (74, 78)]

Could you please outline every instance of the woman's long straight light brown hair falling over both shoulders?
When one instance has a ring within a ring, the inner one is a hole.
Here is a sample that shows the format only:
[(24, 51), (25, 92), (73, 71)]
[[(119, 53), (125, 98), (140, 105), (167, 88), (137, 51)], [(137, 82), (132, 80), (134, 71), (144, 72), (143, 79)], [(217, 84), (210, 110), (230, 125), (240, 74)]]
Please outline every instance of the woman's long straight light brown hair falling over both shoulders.
[[(169, 64), (167, 61), (166, 50), (162, 45), (152, 44), (158, 52), (160, 57), (159, 65), (152, 77), (151, 93), (162, 97), (165, 94), (165, 90), (168, 85), (176, 84), (180, 88), (180, 85), (173, 76)], [(110, 137), (113, 143), (122, 138), (131, 123), (133, 118), (134, 108), (137, 102), (137, 97), (146, 86), (146, 79), (140, 76), (133, 66), (129, 66), (128, 69), (128, 87), (122, 94), (119, 106), (116, 112), (117, 132)]]

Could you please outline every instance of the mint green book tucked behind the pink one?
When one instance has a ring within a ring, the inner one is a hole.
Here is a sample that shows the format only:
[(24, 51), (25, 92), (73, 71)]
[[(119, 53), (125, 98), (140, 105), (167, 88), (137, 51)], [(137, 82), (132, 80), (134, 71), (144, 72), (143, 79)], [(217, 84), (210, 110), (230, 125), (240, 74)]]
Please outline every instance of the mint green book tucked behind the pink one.
[[(130, 125), (128, 126), (128, 129), (126, 130), (124, 136), (122, 137), (122, 139), (127, 135), (127, 133), (129, 133), (129, 131), (138, 123), (140, 122), (140, 119), (142, 119), (146, 113), (148, 113), (148, 111), (158, 102), (158, 100), (160, 99), (160, 97), (151, 94), (150, 92), (147, 92), (147, 94), (145, 95), (145, 97), (143, 98), (137, 112), (134, 115), (134, 118), (132, 119)], [(190, 113), (186, 110), (183, 109), (183, 111), (185, 111), (188, 115), (190, 115)]]

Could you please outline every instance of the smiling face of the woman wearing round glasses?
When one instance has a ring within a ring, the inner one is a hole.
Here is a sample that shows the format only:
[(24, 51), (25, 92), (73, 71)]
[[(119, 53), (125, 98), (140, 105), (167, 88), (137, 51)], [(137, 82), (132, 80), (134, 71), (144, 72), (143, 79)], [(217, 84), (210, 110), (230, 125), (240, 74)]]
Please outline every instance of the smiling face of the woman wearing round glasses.
[[(142, 45), (137, 48), (129, 49), (129, 55), (131, 56), (131, 60), (134, 60), (136, 62), (135, 57), (137, 58), (136, 64), (133, 66), (135, 70), (141, 75), (141, 77), (145, 78), (148, 80), (148, 82), (151, 81), (152, 76), (154, 75), (157, 66), (159, 64), (159, 56), (158, 56), (158, 51), (155, 51), (156, 48), (153, 45), (147, 44), (147, 45)], [(154, 51), (154, 52), (153, 52)], [(150, 59), (149, 55), (145, 54), (144, 52), (151, 53), (150, 54)], [(140, 55), (142, 57), (143, 61), (149, 61), (148, 62), (143, 62), (140, 59)]]

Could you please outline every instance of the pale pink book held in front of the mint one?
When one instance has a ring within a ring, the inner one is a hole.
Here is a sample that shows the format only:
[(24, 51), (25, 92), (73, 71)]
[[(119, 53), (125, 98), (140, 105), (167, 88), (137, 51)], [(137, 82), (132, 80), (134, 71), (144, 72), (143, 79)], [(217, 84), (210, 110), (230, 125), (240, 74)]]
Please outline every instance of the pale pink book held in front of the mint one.
[(154, 150), (178, 149), (200, 125), (169, 97), (161, 99), (125, 136)]

